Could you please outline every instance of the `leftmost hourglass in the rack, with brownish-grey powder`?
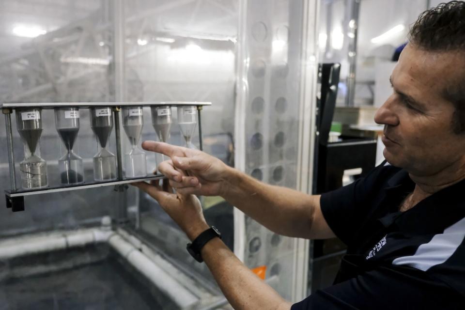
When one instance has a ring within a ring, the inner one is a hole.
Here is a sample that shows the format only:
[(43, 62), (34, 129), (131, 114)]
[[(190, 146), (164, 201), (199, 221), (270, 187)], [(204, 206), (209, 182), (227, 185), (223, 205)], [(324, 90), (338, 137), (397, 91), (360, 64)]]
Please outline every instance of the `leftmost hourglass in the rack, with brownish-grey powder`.
[(19, 163), (23, 188), (48, 186), (47, 162), (40, 158), (39, 140), (42, 134), (42, 109), (17, 109), (16, 126), (24, 143), (24, 160)]

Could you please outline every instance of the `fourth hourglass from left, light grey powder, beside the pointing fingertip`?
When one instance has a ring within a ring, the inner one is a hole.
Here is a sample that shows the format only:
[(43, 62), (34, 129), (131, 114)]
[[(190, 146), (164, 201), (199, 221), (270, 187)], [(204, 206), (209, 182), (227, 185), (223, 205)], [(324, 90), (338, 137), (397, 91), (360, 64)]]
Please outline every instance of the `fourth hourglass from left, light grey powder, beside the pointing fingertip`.
[(144, 177), (147, 175), (145, 153), (138, 147), (144, 124), (142, 107), (123, 107), (122, 113), (124, 132), (131, 143), (131, 151), (124, 155), (126, 177)]

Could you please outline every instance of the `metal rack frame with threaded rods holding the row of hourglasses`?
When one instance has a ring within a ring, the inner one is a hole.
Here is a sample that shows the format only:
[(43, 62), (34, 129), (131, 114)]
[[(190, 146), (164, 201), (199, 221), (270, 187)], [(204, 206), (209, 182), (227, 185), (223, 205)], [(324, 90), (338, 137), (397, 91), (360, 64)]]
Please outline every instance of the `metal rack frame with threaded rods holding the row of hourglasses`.
[[(5, 126), (7, 135), (7, 147), (8, 147), (8, 158), (10, 168), (10, 183), (11, 189), (5, 190), (7, 207), (11, 208), (12, 211), (24, 211), (24, 198), (23, 196), (46, 194), (54, 192), (62, 192), (76, 189), (86, 189), (100, 186), (115, 186), (115, 191), (124, 192), (127, 188), (127, 183), (158, 180), (164, 178), (163, 175), (158, 174), (155, 176), (149, 176), (145, 178), (137, 179), (124, 179), (123, 177), (123, 166), (122, 166), (122, 149), (120, 139), (120, 113), (121, 107), (123, 106), (196, 106), (198, 115), (199, 125), (199, 142), (200, 149), (203, 149), (202, 142), (202, 124), (201, 124), (201, 111), (203, 106), (210, 106), (211, 102), (196, 102), (196, 101), (185, 101), (185, 102), (66, 102), (66, 103), (4, 103), (0, 105), (3, 114), (5, 114)], [(118, 180), (110, 182), (93, 182), (88, 184), (81, 184), (76, 186), (53, 186), (46, 188), (37, 189), (17, 189), (16, 186), (16, 168), (15, 168), (15, 154), (13, 148), (13, 132), (11, 128), (11, 114), (13, 109), (22, 108), (41, 108), (41, 109), (54, 109), (62, 107), (79, 107), (79, 108), (91, 108), (91, 107), (112, 107), (113, 117), (115, 123), (116, 133), (116, 158), (118, 163)]]

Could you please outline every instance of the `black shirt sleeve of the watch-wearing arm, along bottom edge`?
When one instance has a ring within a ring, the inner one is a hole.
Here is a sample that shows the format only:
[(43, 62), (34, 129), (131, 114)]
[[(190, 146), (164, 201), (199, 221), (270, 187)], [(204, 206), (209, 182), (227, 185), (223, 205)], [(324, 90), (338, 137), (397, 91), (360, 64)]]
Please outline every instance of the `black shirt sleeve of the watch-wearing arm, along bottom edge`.
[(291, 310), (463, 310), (464, 302), (463, 296), (442, 282), (378, 268), (318, 290)]

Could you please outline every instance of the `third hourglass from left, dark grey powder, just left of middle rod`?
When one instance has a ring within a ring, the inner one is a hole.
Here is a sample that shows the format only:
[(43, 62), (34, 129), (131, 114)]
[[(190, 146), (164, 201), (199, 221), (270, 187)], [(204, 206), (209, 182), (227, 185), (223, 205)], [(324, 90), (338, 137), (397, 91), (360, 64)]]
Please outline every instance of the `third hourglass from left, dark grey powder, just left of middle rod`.
[(107, 149), (113, 129), (113, 114), (109, 107), (91, 108), (91, 127), (97, 136), (100, 151), (93, 156), (95, 181), (116, 180), (116, 156)]

